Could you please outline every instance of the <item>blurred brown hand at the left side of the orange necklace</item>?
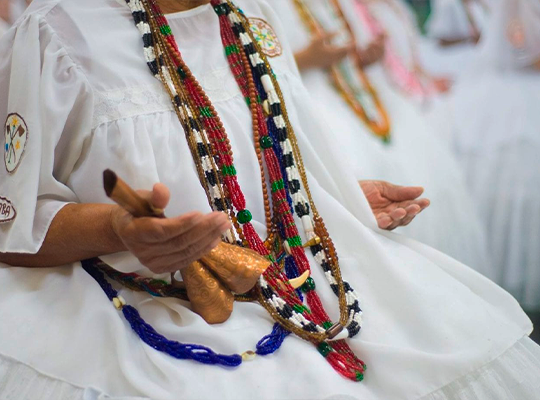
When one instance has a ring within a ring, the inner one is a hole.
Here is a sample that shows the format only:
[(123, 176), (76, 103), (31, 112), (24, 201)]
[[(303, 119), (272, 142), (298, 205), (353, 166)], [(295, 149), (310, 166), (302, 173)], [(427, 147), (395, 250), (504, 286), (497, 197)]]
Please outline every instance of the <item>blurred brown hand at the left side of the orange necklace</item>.
[(334, 37), (333, 33), (324, 33), (313, 38), (308, 47), (294, 55), (298, 68), (301, 71), (330, 68), (354, 51), (354, 43), (344, 46), (331, 44)]

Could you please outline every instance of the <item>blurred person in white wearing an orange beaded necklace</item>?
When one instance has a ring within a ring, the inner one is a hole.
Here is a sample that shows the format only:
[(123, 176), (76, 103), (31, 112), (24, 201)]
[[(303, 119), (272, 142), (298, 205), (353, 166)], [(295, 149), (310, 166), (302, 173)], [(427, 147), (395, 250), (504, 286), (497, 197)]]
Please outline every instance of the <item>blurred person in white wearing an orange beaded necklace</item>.
[(430, 211), (401, 233), (489, 276), (484, 227), (460, 167), (418, 103), (388, 79), (387, 36), (369, 31), (354, 0), (275, 4), (302, 80), (333, 128), (329, 138), (342, 143), (347, 168), (359, 180), (422, 185), (432, 201)]

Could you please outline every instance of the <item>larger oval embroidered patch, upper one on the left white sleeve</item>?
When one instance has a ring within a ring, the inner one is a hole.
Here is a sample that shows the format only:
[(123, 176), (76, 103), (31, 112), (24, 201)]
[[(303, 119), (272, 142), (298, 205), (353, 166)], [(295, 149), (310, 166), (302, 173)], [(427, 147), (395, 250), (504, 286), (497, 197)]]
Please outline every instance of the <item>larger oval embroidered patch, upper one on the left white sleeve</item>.
[(10, 174), (13, 174), (21, 163), (26, 142), (28, 127), (19, 114), (9, 114), (4, 124), (4, 163)]

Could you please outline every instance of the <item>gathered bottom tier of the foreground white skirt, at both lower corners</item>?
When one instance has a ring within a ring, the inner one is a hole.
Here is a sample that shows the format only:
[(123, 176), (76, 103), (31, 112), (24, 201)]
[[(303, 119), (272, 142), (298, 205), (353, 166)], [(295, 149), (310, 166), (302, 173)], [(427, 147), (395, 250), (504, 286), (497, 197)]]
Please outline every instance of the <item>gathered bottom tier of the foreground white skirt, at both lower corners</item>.
[[(482, 368), (419, 400), (534, 400), (540, 391), (540, 347), (523, 338)], [(93, 389), (45, 376), (0, 355), (1, 400), (143, 400), (141, 397), (109, 397)], [(332, 396), (327, 400), (354, 400)]]

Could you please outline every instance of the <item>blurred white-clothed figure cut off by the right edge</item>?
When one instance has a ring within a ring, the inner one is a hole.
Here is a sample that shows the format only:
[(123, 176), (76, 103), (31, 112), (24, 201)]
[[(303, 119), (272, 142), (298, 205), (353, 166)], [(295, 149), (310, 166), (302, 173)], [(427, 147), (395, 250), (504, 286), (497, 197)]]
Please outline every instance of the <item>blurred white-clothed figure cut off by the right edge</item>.
[(456, 88), (455, 145), (497, 282), (540, 310), (540, 1), (504, 0)]

